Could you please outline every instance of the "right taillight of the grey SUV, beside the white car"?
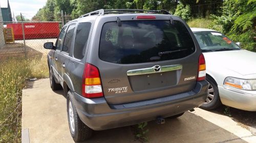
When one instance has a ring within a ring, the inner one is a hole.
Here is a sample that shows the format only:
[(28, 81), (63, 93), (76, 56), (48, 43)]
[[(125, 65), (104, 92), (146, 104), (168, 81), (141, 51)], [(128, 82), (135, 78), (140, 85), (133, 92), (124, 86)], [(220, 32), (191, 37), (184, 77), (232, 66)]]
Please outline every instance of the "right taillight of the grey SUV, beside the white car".
[(199, 56), (199, 65), (198, 65), (197, 81), (205, 80), (205, 76), (206, 76), (205, 59), (204, 59), (204, 55), (201, 54), (201, 55)]

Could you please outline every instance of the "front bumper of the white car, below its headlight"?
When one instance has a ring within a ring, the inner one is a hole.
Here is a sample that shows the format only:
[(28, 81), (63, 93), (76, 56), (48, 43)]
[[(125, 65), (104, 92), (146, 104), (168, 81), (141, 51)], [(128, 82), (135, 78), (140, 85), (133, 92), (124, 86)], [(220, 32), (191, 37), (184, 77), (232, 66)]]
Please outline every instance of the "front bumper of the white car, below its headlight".
[(230, 107), (256, 111), (256, 91), (234, 91), (218, 86), (222, 104)]

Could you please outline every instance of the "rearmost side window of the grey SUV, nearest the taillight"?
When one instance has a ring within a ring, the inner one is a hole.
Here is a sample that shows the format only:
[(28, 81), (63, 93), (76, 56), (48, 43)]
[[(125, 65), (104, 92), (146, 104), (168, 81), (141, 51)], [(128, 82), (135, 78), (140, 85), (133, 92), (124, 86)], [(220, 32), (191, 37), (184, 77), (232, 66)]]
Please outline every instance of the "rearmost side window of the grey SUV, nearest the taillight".
[(91, 29), (91, 23), (79, 23), (76, 29), (75, 45), (74, 45), (74, 58), (82, 59), (86, 53), (86, 45)]

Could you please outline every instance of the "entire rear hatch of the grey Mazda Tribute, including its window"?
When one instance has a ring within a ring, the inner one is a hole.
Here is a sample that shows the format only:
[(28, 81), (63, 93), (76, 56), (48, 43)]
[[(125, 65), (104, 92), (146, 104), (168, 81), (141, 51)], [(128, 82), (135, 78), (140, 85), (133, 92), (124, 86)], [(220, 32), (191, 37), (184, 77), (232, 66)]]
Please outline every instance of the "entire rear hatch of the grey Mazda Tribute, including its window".
[(195, 51), (194, 41), (181, 20), (104, 23), (100, 61), (95, 64), (106, 101), (121, 104), (193, 90), (199, 57)]

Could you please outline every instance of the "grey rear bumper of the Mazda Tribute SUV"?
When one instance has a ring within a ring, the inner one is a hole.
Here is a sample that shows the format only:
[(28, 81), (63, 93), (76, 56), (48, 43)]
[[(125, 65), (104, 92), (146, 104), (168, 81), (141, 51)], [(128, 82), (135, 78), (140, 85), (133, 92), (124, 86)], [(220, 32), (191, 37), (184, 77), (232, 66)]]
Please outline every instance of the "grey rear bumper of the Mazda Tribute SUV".
[(94, 130), (129, 126), (177, 115), (202, 105), (208, 82), (200, 81), (193, 91), (146, 101), (109, 105), (104, 98), (87, 99), (73, 93), (81, 121)]

